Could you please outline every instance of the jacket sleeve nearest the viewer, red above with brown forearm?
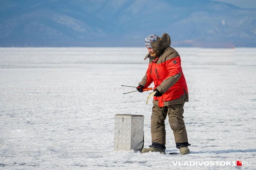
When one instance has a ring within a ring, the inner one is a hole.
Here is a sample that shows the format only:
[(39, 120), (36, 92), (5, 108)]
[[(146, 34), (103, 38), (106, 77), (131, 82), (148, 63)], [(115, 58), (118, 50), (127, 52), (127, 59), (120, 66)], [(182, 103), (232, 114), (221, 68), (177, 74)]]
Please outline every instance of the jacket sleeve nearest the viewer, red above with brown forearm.
[(176, 82), (178, 82), (182, 73), (180, 56), (170, 54), (169, 56), (167, 56), (165, 64), (168, 76), (158, 87), (156, 87), (157, 90), (159, 90), (162, 94), (164, 94)]

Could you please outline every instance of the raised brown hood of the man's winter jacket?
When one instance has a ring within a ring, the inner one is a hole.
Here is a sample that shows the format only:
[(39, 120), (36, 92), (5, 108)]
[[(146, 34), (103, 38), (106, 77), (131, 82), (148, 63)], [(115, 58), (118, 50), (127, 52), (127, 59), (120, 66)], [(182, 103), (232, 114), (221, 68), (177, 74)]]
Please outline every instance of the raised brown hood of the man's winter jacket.
[(153, 47), (153, 51), (164, 50), (166, 47), (171, 45), (171, 38), (167, 33), (163, 33), (159, 40), (151, 43), (151, 45)]

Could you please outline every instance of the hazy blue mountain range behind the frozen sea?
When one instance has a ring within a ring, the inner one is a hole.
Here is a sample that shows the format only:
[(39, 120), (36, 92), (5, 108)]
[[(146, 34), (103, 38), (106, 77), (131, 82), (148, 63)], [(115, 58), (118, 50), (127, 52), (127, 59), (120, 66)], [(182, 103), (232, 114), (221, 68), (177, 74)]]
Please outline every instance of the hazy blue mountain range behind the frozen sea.
[(0, 47), (256, 47), (256, 9), (210, 0), (1, 0)]

